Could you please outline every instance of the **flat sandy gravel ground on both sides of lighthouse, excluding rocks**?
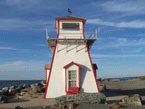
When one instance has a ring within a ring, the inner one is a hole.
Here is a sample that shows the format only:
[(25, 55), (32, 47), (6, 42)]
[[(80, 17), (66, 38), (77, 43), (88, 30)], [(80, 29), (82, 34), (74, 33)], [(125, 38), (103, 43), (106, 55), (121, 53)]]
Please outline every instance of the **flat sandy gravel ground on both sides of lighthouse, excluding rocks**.
[[(126, 95), (140, 94), (143, 99), (142, 106), (128, 106), (122, 109), (145, 109), (145, 81), (133, 80), (124, 82), (106, 83), (106, 95), (108, 104), (80, 104), (76, 109), (113, 109), (112, 103), (118, 103)], [(43, 94), (42, 94), (43, 95)], [(0, 109), (14, 109), (16, 106), (25, 107), (24, 109), (43, 109), (43, 106), (53, 105), (53, 99), (43, 99), (43, 96), (29, 101), (11, 102), (0, 104)]]

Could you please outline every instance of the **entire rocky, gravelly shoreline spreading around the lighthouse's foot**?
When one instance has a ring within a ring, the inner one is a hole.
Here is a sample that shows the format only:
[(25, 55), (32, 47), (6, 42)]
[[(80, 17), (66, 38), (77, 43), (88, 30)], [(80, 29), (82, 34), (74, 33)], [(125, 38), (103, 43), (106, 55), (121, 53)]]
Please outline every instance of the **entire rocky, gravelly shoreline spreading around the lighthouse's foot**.
[(69, 95), (56, 99), (43, 98), (45, 81), (5, 87), (0, 90), (0, 109), (145, 109), (144, 80), (98, 83), (101, 94)]

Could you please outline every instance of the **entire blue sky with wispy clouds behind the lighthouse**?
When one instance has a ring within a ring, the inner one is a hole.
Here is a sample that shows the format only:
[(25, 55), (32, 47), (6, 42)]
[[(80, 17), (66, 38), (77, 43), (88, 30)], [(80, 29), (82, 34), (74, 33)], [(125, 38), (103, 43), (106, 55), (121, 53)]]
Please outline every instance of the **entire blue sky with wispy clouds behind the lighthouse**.
[(45, 79), (44, 64), (52, 58), (46, 28), (52, 32), (55, 18), (67, 16), (68, 8), (72, 16), (87, 19), (86, 37), (87, 32), (98, 31), (90, 50), (98, 78), (145, 76), (144, 4), (144, 0), (0, 0), (0, 80)]

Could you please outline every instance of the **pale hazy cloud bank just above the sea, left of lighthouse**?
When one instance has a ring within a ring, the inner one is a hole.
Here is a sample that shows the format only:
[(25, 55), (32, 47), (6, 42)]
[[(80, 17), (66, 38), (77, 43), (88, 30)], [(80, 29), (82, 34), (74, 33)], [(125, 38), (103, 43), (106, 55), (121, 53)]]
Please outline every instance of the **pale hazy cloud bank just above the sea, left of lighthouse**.
[(44, 61), (13, 61), (0, 65), (0, 80), (45, 79)]

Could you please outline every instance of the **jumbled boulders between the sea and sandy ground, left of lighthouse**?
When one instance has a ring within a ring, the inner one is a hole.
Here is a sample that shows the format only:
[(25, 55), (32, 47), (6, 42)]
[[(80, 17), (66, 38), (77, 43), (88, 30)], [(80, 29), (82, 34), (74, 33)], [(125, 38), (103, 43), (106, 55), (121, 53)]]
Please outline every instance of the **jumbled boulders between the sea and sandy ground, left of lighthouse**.
[(45, 81), (36, 84), (25, 83), (23, 86), (4, 87), (0, 90), (0, 104), (8, 103), (11, 99), (35, 98), (37, 93), (44, 93)]

